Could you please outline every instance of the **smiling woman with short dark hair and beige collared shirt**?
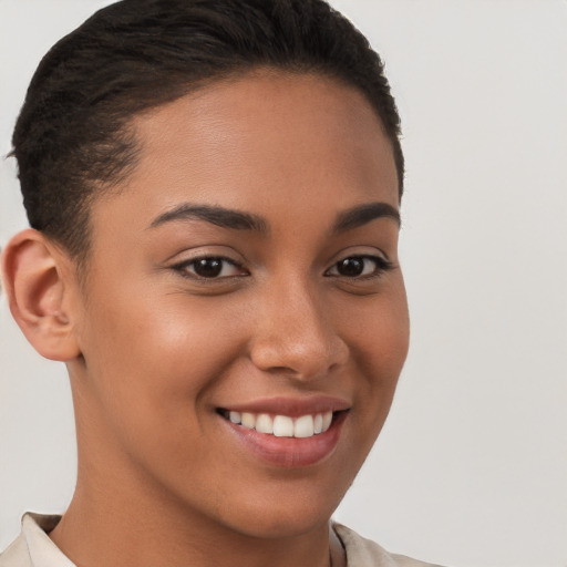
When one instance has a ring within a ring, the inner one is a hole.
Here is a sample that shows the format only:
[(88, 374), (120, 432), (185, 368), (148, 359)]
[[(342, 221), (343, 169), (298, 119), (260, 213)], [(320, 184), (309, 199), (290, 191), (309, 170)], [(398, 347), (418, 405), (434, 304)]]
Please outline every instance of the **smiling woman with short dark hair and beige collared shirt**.
[(330, 524), (408, 350), (399, 134), (319, 0), (125, 0), (50, 51), (2, 267), (79, 473), (0, 566), (424, 565)]

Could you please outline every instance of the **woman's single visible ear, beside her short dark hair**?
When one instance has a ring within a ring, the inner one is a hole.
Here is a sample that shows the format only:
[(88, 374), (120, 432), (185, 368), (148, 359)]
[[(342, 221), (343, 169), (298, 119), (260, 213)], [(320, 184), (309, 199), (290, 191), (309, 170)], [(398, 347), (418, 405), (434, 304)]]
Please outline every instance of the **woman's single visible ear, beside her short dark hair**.
[(10, 311), (33, 348), (51, 360), (79, 357), (65, 302), (72, 282), (63, 252), (41, 233), (23, 230), (6, 246), (2, 275)]

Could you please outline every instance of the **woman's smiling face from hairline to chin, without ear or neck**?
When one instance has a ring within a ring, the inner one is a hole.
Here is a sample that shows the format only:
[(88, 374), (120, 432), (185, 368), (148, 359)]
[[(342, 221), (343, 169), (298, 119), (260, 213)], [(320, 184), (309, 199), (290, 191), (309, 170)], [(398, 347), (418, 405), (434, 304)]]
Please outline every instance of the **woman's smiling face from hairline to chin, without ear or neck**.
[(351, 87), (265, 72), (135, 128), (76, 300), (80, 482), (241, 534), (322, 525), (408, 348), (379, 120)]

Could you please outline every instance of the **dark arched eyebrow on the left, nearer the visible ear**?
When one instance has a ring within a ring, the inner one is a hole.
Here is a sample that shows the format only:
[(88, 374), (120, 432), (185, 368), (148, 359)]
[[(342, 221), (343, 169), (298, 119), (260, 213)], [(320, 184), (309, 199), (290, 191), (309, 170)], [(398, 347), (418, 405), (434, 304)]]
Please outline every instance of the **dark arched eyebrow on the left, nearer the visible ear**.
[(215, 205), (192, 205), (189, 203), (179, 205), (178, 207), (159, 215), (152, 221), (150, 228), (155, 228), (173, 220), (189, 219), (205, 220), (223, 228), (254, 230), (262, 234), (268, 233), (268, 224), (264, 218), (257, 215), (241, 213), (240, 210), (234, 210)]

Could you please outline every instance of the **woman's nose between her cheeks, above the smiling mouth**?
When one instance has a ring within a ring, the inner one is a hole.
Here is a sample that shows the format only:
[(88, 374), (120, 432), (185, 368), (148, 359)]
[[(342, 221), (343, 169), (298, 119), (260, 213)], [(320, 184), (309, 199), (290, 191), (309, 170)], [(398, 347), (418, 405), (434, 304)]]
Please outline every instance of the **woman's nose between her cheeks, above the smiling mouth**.
[(307, 285), (280, 281), (258, 305), (250, 347), (254, 364), (307, 381), (346, 363), (349, 349), (332, 324), (329, 306)]

